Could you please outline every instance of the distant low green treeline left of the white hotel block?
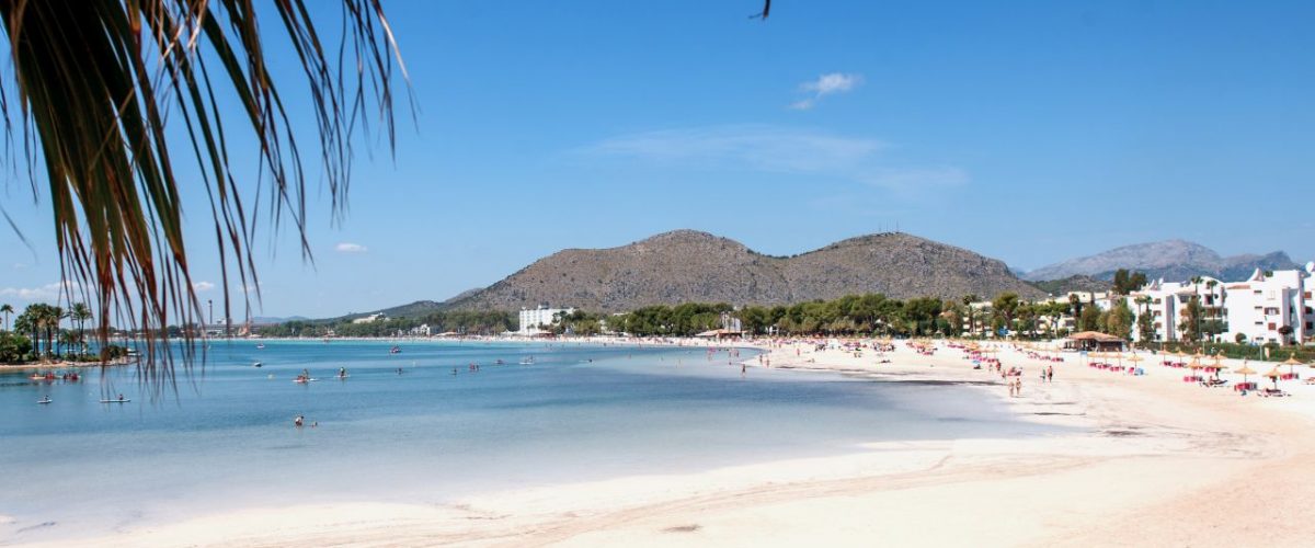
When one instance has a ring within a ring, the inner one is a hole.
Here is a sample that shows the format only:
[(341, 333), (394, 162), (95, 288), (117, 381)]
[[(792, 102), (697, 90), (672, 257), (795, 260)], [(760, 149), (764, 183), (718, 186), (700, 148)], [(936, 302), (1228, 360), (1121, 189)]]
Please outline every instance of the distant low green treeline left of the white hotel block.
[(460, 332), (467, 335), (497, 335), (514, 330), (515, 315), (508, 311), (435, 311), (416, 318), (388, 318), (367, 323), (352, 323), (350, 319), (337, 322), (292, 321), (272, 326), (260, 326), (255, 332), (260, 336), (397, 336), (408, 335), (419, 326), (429, 326), (431, 334)]

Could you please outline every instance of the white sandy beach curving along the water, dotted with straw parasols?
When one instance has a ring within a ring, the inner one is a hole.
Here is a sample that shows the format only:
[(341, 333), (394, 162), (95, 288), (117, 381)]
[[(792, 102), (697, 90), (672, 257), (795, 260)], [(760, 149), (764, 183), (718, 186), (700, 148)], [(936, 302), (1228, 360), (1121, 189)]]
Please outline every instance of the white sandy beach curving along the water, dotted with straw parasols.
[(877, 364), (871, 351), (860, 359), (801, 347), (796, 357), (794, 348), (773, 351), (772, 367), (990, 381), (981, 389), (1006, 398), (1019, 415), (1081, 434), (878, 443), (852, 455), (488, 493), (442, 506), (246, 509), (67, 544), (1308, 545), (1315, 539), (1308, 499), (1315, 386), (1283, 381), (1294, 397), (1240, 397), (1185, 384), (1181, 369), (1159, 359), (1143, 364), (1147, 376), (1131, 377), (1088, 368), (1076, 355), (1055, 364), (1053, 384), (1039, 384), (1043, 364), (1005, 350), (1006, 368), (1026, 372), (1022, 397), (1007, 398), (998, 375), (973, 371), (957, 350), (920, 356), (901, 344), (889, 355), (893, 364)]

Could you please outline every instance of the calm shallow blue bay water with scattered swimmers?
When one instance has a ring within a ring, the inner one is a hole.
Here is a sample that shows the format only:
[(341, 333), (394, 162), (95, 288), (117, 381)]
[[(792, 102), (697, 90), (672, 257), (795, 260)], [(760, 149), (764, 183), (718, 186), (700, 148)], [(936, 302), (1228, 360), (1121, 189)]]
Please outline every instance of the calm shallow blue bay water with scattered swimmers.
[[(742, 376), (726, 352), (702, 348), (389, 346), (214, 343), (204, 378), (155, 402), (132, 368), (82, 382), (0, 373), (0, 515), (12, 518), (0, 518), (0, 543), (251, 505), (443, 502), (874, 440), (1053, 432), (970, 388)], [(530, 355), (534, 365), (518, 364)], [(334, 378), (339, 367), (348, 378)], [(292, 382), (302, 368), (320, 381)], [(133, 401), (100, 403), (105, 392)], [(38, 405), (47, 394), (53, 403)], [(297, 414), (308, 427), (292, 426)]]

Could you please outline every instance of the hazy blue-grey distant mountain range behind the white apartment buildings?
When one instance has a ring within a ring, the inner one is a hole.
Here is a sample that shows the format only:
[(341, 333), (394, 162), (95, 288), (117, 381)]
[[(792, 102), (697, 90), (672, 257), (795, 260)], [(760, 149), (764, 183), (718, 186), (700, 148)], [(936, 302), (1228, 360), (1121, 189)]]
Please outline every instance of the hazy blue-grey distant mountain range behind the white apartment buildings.
[(1095, 255), (1069, 259), (1027, 272), (1024, 280), (1059, 280), (1069, 276), (1090, 276), (1099, 280), (1114, 279), (1114, 271), (1127, 268), (1145, 272), (1147, 277), (1187, 280), (1193, 276), (1212, 276), (1224, 281), (1241, 280), (1256, 268), (1281, 271), (1298, 268), (1282, 251), (1268, 255), (1237, 255), (1224, 258), (1199, 243), (1181, 239), (1137, 243), (1116, 247)]

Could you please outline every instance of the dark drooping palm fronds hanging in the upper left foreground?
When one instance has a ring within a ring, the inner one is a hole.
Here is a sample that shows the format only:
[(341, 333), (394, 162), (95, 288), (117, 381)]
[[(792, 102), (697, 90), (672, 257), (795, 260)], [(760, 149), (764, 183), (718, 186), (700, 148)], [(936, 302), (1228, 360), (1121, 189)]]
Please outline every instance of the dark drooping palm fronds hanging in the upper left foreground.
[[(393, 146), (393, 72), (405, 78), (405, 67), (392, 29), (380, 0), (339, 1), (341, 11), (305, 0), (260, 9), (239, 0), (0, 0), (12, 62), (4, 76), (16, 91), (0, 97), (0, 112), (7, 127), (20, 122), (28, 173), (43, 177), (32, 181), (33, 192), (50, 193), (68, 277), (101, 297), (103, 340), (116, 308), (145, 323), (147, 342), (167, 325), (200, 315), (181, 196), (203, 193), (183, 192), (176, 162), (200, 168), (188, 181), (205, 187), (208, 204), (192, 210), (212, 212), (224, 285), (234, 273), (242, 285), (258, 286), (252, 216), (268, 212), (275, 226), (291, 221), (309, 260), (306, 179), (323, 180), (333, 216), (341, 217), (355, 139), (371, 141), (375, 121)], [(322, 35), (341, 35), (342, 45), (323, 43)], [(275, 78), (267, 60), (279, 46), (291, 46), (302, 68), (280, 75), (304, 78), (297, 89), (309, 97), (283, 93), (285, 78)], [(309, 105), (314, 146), (297, 139), (284, 106), (292, 103)], [(243, 131), (255, 137), (256, 177), (246, 160), (230, 163), (246, 155), (230, 150), (238, 142), (229, 139)], [(304, 159), (304, 150), (320, 154)], [(308, 175), (308, 163), (318, 163), (322, 175)], [(268, 194), (258, 198), (260, 189)], [(146, 364), (154, 378), (155, 356)], [(167, 355), (163, 365), (172, 371)]]

